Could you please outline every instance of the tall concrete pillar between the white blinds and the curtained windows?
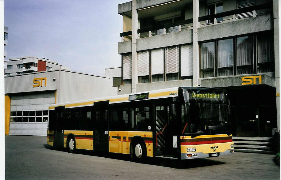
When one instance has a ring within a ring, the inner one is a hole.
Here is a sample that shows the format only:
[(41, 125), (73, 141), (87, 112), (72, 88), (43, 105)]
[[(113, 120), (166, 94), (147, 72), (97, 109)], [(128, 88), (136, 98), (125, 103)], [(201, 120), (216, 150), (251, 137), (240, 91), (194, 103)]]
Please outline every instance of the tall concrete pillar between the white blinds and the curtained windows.
[(199, 45), (198, 45), (198, 17), (199, 17), (199, 0), (192, 1), (192, 16), (193, 16), (193, 86), (200, 85), (199, 79)]

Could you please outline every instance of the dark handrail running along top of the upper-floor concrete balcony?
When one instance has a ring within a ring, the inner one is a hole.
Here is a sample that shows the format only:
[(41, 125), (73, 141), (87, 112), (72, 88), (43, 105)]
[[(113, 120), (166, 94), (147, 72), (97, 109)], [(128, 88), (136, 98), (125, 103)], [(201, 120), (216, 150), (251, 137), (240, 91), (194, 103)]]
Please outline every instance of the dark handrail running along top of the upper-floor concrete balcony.
[[(241, 13), (247, 13), (253, 10), (260, 10), (260, 9), (266, 9), (266, 8), (272, 8), (272, 1), (265, 3), (265, 4), (260, 4), (260, 5), (255, 5), (255, 6), (249, 6), (249, 7), (244, 7), (244, 8), (239, 8), (239, 9), (234, 9), (230, 11), (225, 11), (222, 13), (216, 13), (216, 14), (211, 14), (211, 15), (206, 15), (206, 16), (201, 16), (198, 17), (198, 21), (206, 21), (209, 19), (215, 19), (219, 17), (226, 17), (226, 16), (231, 16), (233, 14), (241, 14)], [(153, 30), (158, 30), (158, 29), (164, 29), (167, 27), (174, 27), (174, 26), (179, 26), (183, 24), (190, 24), (193, 22), (193, 19), (187, 19), (187, 20), (181, 20), (175, 23), (165, 23), (164, 25), (161, 26), (151, 26), (148, 28), (141, 28), (137, 30), (137, 33), (142, 33), (142, 32), (148, 32), (148, 31), (153, 31)], [(126, 32), (121, 32), (120, 37), (123, 36), (129, 36), (132, 35), (132, 31), (126, 31)]]

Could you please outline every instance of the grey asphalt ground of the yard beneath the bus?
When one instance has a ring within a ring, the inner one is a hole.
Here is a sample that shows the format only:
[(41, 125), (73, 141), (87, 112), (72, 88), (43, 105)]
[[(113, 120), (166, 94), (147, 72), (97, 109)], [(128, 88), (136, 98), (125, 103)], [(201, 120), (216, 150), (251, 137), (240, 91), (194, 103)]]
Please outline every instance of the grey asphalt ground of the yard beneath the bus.
[(242, 153), (177, 162), (53, 149), (43, 136), (5, 136), (6, 179), (280, 179), (275, 155)]

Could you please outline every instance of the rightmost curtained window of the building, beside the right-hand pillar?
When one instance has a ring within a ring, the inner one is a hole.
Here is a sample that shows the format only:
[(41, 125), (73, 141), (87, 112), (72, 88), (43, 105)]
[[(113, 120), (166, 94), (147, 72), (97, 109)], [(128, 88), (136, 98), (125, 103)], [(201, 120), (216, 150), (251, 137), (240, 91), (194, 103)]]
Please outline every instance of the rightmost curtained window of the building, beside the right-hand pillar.
[(265, 34), (256, 36), (257, 73), (274, 72), (273, 40)]

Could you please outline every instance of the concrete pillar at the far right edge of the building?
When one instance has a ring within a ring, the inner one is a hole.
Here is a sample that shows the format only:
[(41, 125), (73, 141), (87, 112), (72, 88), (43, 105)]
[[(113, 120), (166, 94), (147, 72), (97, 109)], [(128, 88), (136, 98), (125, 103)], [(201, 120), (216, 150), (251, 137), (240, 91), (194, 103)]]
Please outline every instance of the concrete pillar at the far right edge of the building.
[[(279, 79), (279, 0), (273, 0), (273, 30), (274, 30), (274, 61), (275, 61), (275, 87), (276, 93), (280, 93)], [(280, 99), (276, 96), (277, 127), (280, 132)]]

